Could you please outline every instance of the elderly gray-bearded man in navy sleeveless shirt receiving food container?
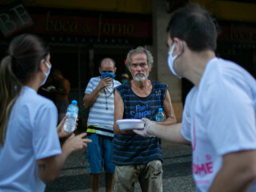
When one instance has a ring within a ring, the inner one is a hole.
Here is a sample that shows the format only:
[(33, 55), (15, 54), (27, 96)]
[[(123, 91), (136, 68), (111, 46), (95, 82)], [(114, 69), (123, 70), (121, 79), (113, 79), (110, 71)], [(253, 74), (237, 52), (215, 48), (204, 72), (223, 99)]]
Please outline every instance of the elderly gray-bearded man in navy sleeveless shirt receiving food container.
[[(130, 50), (126, 66), (133, 79), (114, 91), (114, 122), (122, 118), (149, 118), (154, 121), (158, 108), (166, 114), (160, 125), (176, 122), (168, 86), (148, 79), (153, 66), (153, 56), (144, 47)], [(116, 165), (114, 191), (134, 191), (138, 179), (142, 191), (162, 191), (161, 140), (143, 138), (132, 130), (120, 130), (114, 123), (114, 157)]]

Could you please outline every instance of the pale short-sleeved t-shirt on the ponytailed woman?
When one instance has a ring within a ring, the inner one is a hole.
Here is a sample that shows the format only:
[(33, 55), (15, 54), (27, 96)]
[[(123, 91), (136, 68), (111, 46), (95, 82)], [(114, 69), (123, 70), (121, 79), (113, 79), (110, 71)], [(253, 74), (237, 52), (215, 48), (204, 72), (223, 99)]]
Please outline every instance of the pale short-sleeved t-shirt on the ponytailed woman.
[(37, 160), (61, 154), (54, 103), (24, 86), (0, 146), (0, 191), (44, 191)]

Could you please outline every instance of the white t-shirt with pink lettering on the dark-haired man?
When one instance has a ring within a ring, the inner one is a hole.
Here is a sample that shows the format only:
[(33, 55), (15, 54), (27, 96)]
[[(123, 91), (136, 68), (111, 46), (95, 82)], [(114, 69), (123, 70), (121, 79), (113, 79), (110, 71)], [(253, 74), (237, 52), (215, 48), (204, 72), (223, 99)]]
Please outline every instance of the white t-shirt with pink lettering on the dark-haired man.
[(256, 82), (246, 70), (221, 58), (207, 63), (198, 88), (187, 95), (181, 130), (192, 143), (198, 191), (209, 190), (222, 155), (256, 150), (255, 101)]

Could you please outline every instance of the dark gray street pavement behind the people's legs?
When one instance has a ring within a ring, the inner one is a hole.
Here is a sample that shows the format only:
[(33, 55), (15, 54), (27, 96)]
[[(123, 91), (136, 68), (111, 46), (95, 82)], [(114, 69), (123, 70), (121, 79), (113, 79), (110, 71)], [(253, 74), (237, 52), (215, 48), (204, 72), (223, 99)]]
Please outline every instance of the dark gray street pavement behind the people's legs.
[[(163, 191), (164, 192), (195, 192), (191, 172), (190, 146), (162, 142)], [(58, 178), (46, 187), (46, 192), (89, 192), (90, 179), (86, 173), (86, 151), (81, 150), (66, 160), (65, 166)], [(102, 174), (100, 192), (105, 192), (105, 176)], [(140, 192), (138, 182), (135, 192)]]

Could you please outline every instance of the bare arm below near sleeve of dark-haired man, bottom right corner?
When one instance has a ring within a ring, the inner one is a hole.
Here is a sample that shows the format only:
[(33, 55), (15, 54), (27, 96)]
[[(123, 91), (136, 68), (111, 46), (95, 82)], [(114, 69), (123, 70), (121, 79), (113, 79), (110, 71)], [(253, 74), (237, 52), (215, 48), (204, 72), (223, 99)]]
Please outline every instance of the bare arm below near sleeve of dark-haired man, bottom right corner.
[(256, 150), (242, 150), (222, 156), (209, 192), (243, 192), (256, 178)]

